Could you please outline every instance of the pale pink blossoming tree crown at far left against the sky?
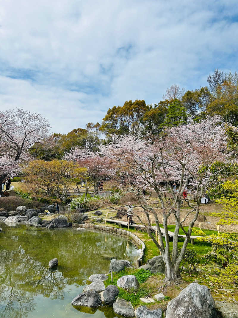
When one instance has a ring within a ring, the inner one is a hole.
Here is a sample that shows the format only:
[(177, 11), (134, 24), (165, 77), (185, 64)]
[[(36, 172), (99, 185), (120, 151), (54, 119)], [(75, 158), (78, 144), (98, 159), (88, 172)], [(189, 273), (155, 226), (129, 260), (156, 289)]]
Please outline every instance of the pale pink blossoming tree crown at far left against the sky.
[(47, 136), (49, 128), (49, 122), (40, 114), (22, 108), (2, 111), (0, 112), (1, 150), (9, 158), (18, 161), (23, 153)]

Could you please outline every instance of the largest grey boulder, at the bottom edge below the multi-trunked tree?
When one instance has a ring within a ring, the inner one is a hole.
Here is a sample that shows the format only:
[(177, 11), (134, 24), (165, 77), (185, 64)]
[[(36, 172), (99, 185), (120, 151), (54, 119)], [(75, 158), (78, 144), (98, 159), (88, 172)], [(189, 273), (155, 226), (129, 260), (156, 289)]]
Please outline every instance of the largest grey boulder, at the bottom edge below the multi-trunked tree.
[(208, 287), (191, 283), (169, 301), (166, 318), (217, 318), (215, 301)]

